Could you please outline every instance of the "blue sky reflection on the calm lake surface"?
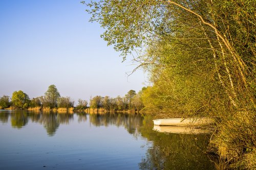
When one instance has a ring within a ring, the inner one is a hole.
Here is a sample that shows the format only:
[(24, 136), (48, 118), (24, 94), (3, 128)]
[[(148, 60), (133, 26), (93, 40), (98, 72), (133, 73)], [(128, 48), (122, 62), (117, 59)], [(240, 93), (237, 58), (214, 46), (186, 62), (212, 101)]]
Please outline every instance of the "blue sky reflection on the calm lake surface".
[(0, 169), (138, 169), (147, 149), (142, 147), (148, 145), (146, 139), (122, 126), (95, 127), (89, 115), (78, 123), (74, 114), (53, 135), (47, 134), (47, 120), (42, 119), (33, 122), (29, 116), (20, 129), (11, 126), (11, 116), (8, 124), (0, 124)]

